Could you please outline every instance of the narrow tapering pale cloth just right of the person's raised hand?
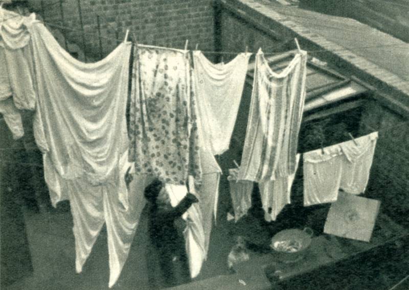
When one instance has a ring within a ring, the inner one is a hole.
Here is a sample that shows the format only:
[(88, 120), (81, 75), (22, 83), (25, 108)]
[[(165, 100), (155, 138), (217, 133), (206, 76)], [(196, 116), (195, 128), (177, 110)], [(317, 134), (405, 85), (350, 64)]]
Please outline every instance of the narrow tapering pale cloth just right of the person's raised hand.
[(206, 249), (205, 258), (207, 258), (213, 219), (216, 222), (217, 216), (221, 169), (213, 154), (209, 151), (200, 151), (200, 158), (202, 166), (202, 185), (199, 190), (199, 206), (203, 216)]

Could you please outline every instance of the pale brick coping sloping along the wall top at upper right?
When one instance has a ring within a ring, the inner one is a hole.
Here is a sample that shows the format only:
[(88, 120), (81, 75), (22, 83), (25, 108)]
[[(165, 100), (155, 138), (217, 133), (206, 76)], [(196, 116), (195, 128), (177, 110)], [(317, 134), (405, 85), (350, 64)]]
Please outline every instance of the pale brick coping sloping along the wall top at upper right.
[[(308, 41), (318, 47), (326, 50), (326, 54), (320, 54), (320, 58), (331, 59), (338, 67), (356, 75), (362, 81), (365, 81), (376, 88), (374, 97), (380, 99), (382, 104), (399, 114), (409, 117), (409, 84), (392, 72), (385, 70), (372, 63), (368, 59), (360, 57), (351, 51), (345, 49), (336, 43), (328, 41), (324, 37), (312, 33), (305, 27), (289, 19), (268, 7), (260, 1), (255, 0), (221, 0), (224, 8), (231, 11), (240, 11), (240, 16), (244, 19), (268, 18), (279, 26), (284, 28), (285, 34), (299, 37), (299, 41)], [(316, 12), (315, 12), (316, 13)], [(265, 21), (260, 20), (260, 23)], [(327, 57), (326, 57), (327, 56)]]

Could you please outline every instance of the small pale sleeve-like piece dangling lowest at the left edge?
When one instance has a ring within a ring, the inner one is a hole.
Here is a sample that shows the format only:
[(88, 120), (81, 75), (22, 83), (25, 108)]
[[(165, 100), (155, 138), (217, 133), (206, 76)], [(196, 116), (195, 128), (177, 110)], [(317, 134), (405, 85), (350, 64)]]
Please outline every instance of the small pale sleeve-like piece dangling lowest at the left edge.
[(13, 139), (19, 139), (24, 135), (20, 111), (14, 105), (13, 99), (0, 100), (0, 113), (13, 134)]

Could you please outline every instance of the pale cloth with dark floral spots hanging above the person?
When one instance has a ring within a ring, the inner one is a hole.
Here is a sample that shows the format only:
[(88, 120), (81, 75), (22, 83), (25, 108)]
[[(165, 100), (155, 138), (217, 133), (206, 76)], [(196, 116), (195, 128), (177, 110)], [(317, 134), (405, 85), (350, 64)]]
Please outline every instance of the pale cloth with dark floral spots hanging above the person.
[(129, 160), (136, 174), (165, 183), (200, 180), (200, 157), (187, 51), (135, 47)]

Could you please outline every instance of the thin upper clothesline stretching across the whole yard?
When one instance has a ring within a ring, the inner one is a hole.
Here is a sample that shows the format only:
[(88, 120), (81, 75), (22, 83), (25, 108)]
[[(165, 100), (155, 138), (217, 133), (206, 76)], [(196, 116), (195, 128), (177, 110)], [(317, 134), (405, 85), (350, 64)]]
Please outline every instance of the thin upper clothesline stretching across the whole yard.
[[(3, 21), (9, 20), (9, 19), (12, 19), (12, 18), (15, 18), (15, 17), (21, 17), (21, 16), (22, 16), (22, 15), (12, 16), (12, 17), (9, 17), (9, 18), (7, 18), (7, 19), (3, 19)], [(57, 24), (54, 24), (54, 23), (50, 23), (50, 22), (46, 22), (46, 21), (42, 21), (42, 22), (44, 23), (44, 25), (48, 25), (48, 26), (51, 26), (51, 27), (60, 28), (60, 29), (63, 29), (63, 30), (70, 30), (70, 31), (73, 31), (73, 32), (79, 32), (77, 29), (60, 26), (60, 25), (57, 25)], [(85, 31), (84, 31), (84, 33), (85, 33), (85, 34), (88, 34), (88, 35), (93, 35), (93, 36), (95, 36), (95, 32), (85, 32)], [(104, 38), (104, 39), (107, 39), (107, 40), (114, 40), (114, 41), (116, 41), (117, 43), (121, 43), (121, 42), (124, 41), (124, 39), (119, 39), (119, 38), (116, 38), (116, 37), (108, 37), (108, 36), (103, 36), (103, 35), (100, 35), (99, 37)], [(135, 44), (138, 44), (138, 43), (135, 41), (135, 39), (133, 40), (133, 42), (134, 42)], [(285, 42), (284, 44), (287, 44), (287, 42)], [(283, 44), (279, 44), (279, 45), (277, 45), (277, 46), (270, 46), (270, 47), (267, 47), (265, 50), (268, 51), (268, 50), (270, 50), (270, 49), (277, 49), (277, 48), (280, 48), (282, 45), (283, 45)], [(334, 49), (334, 50), (331, 50), (331, 52), (335, 52), (335, 51), (336, 51), (336, 52), (350, 51), (351, 49), (371, 49), (371, 48), (378, 48), (378, 47), (399, 47), (399, 46), (407, 46), (407, 44), (406, 44), (406, 43), (402, 43), (402, 44), (353, 46), (353, 47), (351, 47), (350, 49)], [(223, 51), (201, 51), (201, 52), (202, 52), (202, 53), (205, 53), (205, 54), (216, 54), (216, 55), (237, 55), (237, 54), (240, 54), (240, 53), (244, 53), (244, 52), (223, 52)], [(308, 52), (308, 53), (328, 52), (328, 50), (325, 50), (325, 49), (323, 49), (323, 50), (309, 50), (309, 51), (307, 51), (307, 52)], [(250, 54), (256, 54), (256, 53), (254, 53), (254, 52), (248, 52), (248, 53), (250, 53)], [(280, 55), (280, 54), (282, 54), (282, 53), (283, 53), (283, 52), (264, 52), (263, 54), (264, 54), (264, 55)]]

